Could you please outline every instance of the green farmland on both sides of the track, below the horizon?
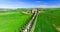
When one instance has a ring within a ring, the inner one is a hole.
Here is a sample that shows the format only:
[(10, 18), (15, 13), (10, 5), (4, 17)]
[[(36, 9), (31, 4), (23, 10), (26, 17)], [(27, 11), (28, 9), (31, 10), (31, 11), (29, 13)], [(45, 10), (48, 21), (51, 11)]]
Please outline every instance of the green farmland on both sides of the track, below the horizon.
[[(58, 32), (56, 28), (60, 28), (60, 8), (45, 8), (42, 11), (41, 9), (37, 9), (36, 14), (32, 14), (31, 9), (1, 11), (0, 32), (20, 32), (26, 27), (28, 31), (34, 32)], [(36, 19), (34, 15), (37, 15)], [(30, 27), (28, 24), (32, 29), (28, 29)]]

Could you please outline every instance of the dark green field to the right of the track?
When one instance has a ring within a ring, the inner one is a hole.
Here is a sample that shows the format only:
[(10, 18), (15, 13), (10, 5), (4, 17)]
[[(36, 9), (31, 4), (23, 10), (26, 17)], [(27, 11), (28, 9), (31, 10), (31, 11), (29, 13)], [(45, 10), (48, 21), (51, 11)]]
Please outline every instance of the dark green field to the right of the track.
[(60, 27), (60, 9), (46, 9), (38, 14), (34, 32), (58, 32)]

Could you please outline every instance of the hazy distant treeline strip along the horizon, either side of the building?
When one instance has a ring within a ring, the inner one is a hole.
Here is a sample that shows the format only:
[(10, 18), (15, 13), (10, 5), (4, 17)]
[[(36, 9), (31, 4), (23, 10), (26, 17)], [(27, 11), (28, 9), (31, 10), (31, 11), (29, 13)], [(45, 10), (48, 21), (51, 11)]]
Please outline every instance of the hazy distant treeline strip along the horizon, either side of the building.
[[(0, 8), (0, 12), (7, 12), (7, 11), (32, 11), (34, 8), (17, 8), (17, 9), (4, 9)], [(48, 11), (48, 10), (60, 10), (60, 8), (36, 8), (38, 11)]]

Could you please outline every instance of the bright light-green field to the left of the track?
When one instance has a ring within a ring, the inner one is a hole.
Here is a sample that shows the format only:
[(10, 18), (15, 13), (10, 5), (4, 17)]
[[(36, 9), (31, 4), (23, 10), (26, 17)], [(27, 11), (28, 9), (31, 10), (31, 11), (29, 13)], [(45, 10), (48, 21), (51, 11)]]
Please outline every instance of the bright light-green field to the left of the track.
[(21, 12), (0, 13), (0, 32), (19, 32), (28, 22), (31, 14)]

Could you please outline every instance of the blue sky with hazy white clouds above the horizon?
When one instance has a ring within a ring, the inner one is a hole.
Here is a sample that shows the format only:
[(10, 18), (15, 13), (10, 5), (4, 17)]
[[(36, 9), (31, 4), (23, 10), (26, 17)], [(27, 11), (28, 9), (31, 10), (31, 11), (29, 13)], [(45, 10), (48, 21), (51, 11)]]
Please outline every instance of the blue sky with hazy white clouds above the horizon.
[(60, 0), (0, 0), (0, 8), (60, 7)]

